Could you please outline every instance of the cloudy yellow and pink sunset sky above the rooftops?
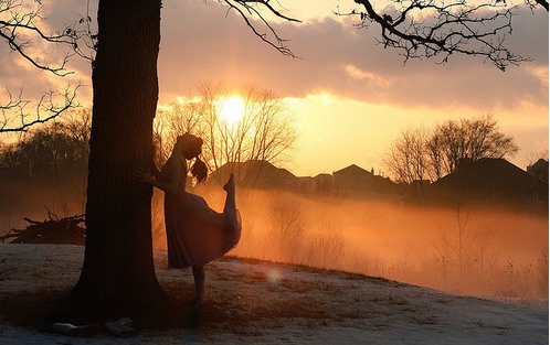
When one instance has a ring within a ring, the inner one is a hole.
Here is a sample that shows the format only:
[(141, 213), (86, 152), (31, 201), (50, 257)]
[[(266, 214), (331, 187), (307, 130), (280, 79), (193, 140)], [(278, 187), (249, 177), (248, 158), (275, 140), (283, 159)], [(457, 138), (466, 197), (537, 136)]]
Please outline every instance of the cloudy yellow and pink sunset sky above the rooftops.
[[(383, 155), (401, 130), (486, 114), (515, 137), (520, 151), (510, 160), (520, 168), (548, 152), (548, 12), (525, 11), (515, 18), (509, 45), (533, 62), (503, 73), (475, 57), (453, 56), (445, 65), (403, 64), (396, 51), (376, 44), (374, 25), (357, 30), (349, 19), (332, 14), (338, 4), (353, 4), (351, 0), (282, 3), (303, 23), (274, 28), (300, 58), (281, 55), (235, 12), (226, 15), (226, 7), (212, 0), (163, 1), (159, 103), (194, 96), (203, 82), (272, 89), (288, 101), (296, 118), (299, 141), (284, 168), (297, 175), (352, 163), (384, 171)], [(54, 23), (86, 15), (86, 1), (44, 4)], [(95, 18), (94, 10), (91, 14)], [(8, 54), (6, 44), (0, 45), (2, 61), (14, 61), (0, 64), (2, 86), (24, 86), (32, 94), (60, 83)], [(88, 63), (73, 61), (72, 67), (77, 71), (73, 78), (86, 85), (81, 98), (89, 99)]]

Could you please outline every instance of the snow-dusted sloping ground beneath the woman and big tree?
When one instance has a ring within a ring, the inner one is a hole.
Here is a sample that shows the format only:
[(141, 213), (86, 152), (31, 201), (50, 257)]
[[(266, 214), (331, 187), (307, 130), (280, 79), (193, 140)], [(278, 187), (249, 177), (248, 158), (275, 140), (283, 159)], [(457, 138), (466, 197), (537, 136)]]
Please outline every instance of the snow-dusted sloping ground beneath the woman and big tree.
[[(195, 327), (78, 338), (21, 326), (21, 322), (15, 326), (7, 320), (2, 301), (67, 291), (78, 278), (82, 258), (83, 248), (75, 246), (0, 245), (1, 344), (516, 345), (549, 341), (548, 301), (459, 297), (383, 279), (236, 258), (208, 266), (209, 302)], [(191, 299), (191, 272), (168, 270), (165, 252), (157, 252), (155, 259), (167, 293), (184, 291), (183, 298)]]

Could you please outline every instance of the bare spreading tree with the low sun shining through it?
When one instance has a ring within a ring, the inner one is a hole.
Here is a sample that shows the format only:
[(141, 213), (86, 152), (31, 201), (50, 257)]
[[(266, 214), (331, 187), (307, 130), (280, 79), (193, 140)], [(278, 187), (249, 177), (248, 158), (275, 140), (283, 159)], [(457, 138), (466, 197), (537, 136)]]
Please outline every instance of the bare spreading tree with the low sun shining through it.
[[(277, 164), (287, 158), (297, 133), (288, 108), (272, 90), (203, 84), (199, 94), (199, 99), (176, 103), (159, 111), (155, 138), (163, 159), (176, 137), (186, 131), (203, 138), (203, 158), (212, 171), (228, 162), (264, 160)], [(221, 114), (223, 101), (230, 96), (244, 101), (244, 114), (235, 122)]]

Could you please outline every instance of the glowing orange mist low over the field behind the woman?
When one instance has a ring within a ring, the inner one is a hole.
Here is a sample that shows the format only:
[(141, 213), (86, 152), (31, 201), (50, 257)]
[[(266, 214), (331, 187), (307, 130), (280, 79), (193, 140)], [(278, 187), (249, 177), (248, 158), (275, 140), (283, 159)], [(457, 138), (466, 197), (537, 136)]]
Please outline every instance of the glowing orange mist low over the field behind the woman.
[[(221, 188), (195, 190), (223, 209)], [(230, 255), (345, 270), (452, 293), (548, 298), (548, 215), (237, 190), (243, 219)], [(166, 250), (162, 196), (154, 242)]]

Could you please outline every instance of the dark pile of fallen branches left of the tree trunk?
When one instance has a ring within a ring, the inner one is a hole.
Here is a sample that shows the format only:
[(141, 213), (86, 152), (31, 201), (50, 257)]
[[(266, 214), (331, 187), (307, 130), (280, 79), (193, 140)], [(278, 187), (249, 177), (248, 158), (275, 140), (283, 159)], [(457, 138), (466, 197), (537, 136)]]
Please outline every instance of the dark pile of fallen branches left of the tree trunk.
[(47, 211), (49, 218), (38, 222), (24, 217), (29, 223), (24, 229), (11, 229), (8, 234), (0, 236), (0, 241), (10, 244), (63, 244), (84, 246), (86, 229), (80, 224), (84, 223), (84, 215), (59, 218)]

